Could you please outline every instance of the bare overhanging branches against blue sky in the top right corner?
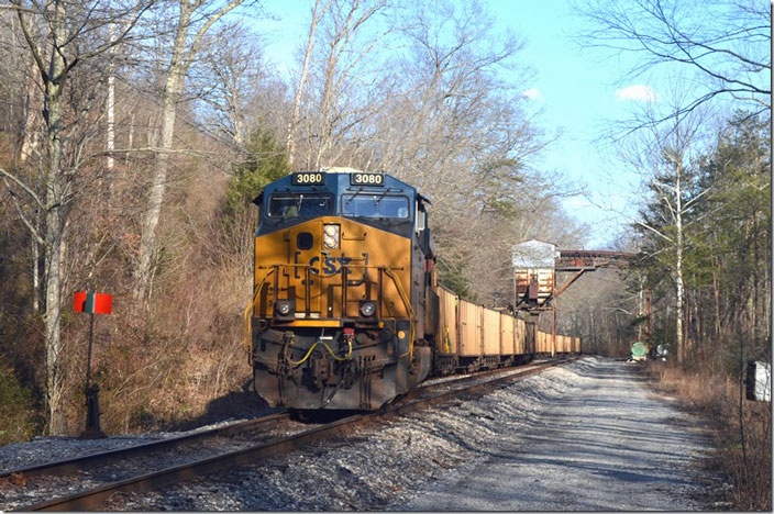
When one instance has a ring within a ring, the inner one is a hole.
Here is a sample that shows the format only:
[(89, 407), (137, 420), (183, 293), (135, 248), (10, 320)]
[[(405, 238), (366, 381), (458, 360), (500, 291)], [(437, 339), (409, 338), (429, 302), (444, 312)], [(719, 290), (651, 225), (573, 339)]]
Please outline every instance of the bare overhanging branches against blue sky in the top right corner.
[[(696, 90), (660, 123), (731, 97), (771, 107), (771, 3), (747, 0), (589, 0), (578, 8), (594, 29), (585, 45), (640, 57), (624, 79), (663, 68), (692, 72)], [(642, 120), (639, 120), (642, 122)]]

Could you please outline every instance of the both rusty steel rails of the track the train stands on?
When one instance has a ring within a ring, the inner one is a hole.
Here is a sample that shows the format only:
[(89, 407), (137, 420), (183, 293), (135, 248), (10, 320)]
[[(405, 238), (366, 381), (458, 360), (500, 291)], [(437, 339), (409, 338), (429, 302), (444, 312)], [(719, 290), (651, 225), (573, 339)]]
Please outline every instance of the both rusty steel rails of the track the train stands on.
[[(369, 424), (385, 422), (411, 412), (420, 411), (432, 405), (444, 403), (453, 399), (465, 396), (480, 396), (486, 394), (508, 382), (517, 381), (531, 375), (543, 371), (561, 364), (568, 362), (573, 359), (553, 360), (550, 362), (537, 362), (519, 368), (510, 368), (508, 370), (497, 369), (483, 373), (476, 373), (462, 378), (439, 381), (430, 386), (419, 388), (411, 391), (408, 395), (399, 401), (386, 405), (380, 411), (374, 413), (356, 414), (342, 420), (328, 423), (325, 425), (316, 426), (310, 429), (302, 431), (297, 434), (277, 437), (275, 439), (251, 445), (246, 448), (234, 451), (226, 451), (220, 455), (207, 457), (203, 459), (186, 462), (179, 466), (173, 466), (158, 471), (153, 471), (144, 474), (139, 474), (124, 480), (119, 480), (112, 483), (98, 485), (77, 493), (56, 498), (43, 503), (27, 505), (22, 507), (23, 511), (91, 511), (99, 510), (100, 506), (117, 492), (123, 493), (142, 493), (145, 491), (158, 489), (161, 487), (181, 482), (184, 480), (201, 477), (207, 473), (223, 471), (236, 466), (255, 463), (259, 459), (283, 455), (295, 449), (307, 447), (313, 443), (325, 440), (335, 436), (345, 436), (352, 434), (357, 428)], [(67, 461), (53, 462), (51, 465), (41, 465), (23, 470), (8, 471), (0, 474), (10, 477), (11, 473), (18, 473), (21, 477), (42, 476), (42, 474), (62, 474), (71, 473), (84, 467), (95, 466), (97, 460), (111, 460), (121, 458), (128, 455), (143, 455), (145, 452), (158, 451), (164, 448), (172, 448), (175, 445), (190, 444), (195, 440), (201, 440), (206, 437), (215, 437), (218, 435), (228, 435), (231, 433), (242, 433), (259, 429), (261, 426), (267, 426), (270, 423), (278, 423), (281, 420), (287, 420), (287, 412), (276, 413), (269, 416), (264, 416), (240, 424), (229, 425), (226, 427), (214, 428), (202, 433), (181, 436), (179, 438), (164, 439), (159, 442), (137, 445), (118, 450), (107, 451), (104, 454), (91, 455), (68, 459)], [(179, 440), (178, 440), (179, 439)], [(97, 459), (97, 460), (90, 460)], [(30, 474), (33, 473), (33, 474)]]

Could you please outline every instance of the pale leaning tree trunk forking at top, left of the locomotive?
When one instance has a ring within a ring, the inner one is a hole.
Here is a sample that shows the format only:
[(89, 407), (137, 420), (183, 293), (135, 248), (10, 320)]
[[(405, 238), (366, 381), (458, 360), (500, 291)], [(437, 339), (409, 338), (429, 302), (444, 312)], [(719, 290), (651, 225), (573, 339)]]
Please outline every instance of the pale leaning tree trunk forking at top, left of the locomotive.
[(156, 226), (166, 191), (169, 154), (174, 146), (177, 107), (185, 87), (186, 76), (206, 43), (207, 33), (225, 14), (241, 5), (244, 0), (231, 0), (220, 4), (213, 0), (179, 0), (175, 18), (174, 37), (169, 49), (169, 62), (162, 74), (161, 148), (156, 155), (147, 209), (142, 219), (140, 252), (135, 269), (134, 298), (146, 302), (153, 272), (152, 259), (156, 247)]

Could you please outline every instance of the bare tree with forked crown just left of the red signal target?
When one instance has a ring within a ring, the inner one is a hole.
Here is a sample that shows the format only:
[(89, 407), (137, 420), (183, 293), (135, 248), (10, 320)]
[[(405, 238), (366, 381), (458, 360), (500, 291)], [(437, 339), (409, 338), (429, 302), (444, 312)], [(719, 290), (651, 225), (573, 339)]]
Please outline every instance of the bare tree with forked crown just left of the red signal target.
[[(43, 86), (43, 174), (44, 193), (26, 183), (22, 177), (0, 169), (5, 187), (14, 198), (26, 197), (43, 213), (44, 226), (35, 225), (21, 209), (21, 221), (45, 252), (45, 348), (46, 348), (46, 400), (48, 429), (60, 434), (65, 429), (62, 405), (63, 369), (60, 366), (60, 313), (63, 260), (65, 255), (65, 232), (68, 224), (69, 204), (82, 193), (78, 183), (79, 159), (65, 159), (73, 150), (70, 145), (79, 124), (87, 123), (88, 113), (98, 104), (98, 91), (107, 79), (108, 68), (91, 69), (86, 88), (81, 89), (82, 101), (73, 108), (68, 96), (73, 94), (71, 83), (76, 72), (92, 66), (95, 62), (126, 40), (137, 20), (150, 8), (151, 1), (120, 2), (102, 4), (95, 2), (24, 2), (14, 0), (9, 8), (15, 11), (19, 27), (26, 49), (35, 63)], [(113, 37), (104, 34), (114, 21), (123, 21), (122, 30)], [(98, 36), (101, 35), (100, 36)], [(85, 86), (84, 82), (78, 87)], [(67, 115), (67, 114), (73, 114)], [(67, 116), (66, 116), (67, 115)]]

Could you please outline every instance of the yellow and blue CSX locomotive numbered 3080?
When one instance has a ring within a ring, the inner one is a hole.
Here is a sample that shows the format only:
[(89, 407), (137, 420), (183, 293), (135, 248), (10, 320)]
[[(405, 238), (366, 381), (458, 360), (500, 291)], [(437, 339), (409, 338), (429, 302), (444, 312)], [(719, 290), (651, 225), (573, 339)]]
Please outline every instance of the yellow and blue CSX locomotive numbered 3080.
[(373, 410), (430, 373), (435, 259), (414, 188), (349, 168), (299, 171), (254, 200), (256, 391), (297, 410)]

